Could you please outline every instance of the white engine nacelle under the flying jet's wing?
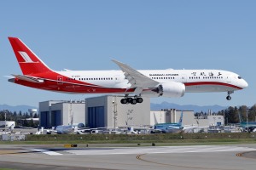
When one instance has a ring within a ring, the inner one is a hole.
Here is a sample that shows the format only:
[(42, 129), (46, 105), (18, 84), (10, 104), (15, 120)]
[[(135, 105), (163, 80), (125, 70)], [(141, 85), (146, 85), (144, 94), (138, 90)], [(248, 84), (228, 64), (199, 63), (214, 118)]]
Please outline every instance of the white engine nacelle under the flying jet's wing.
[(157, 89), (160, 96), (168, 98), (179, 98), (185, 94), (185, 85), (181, 82), (164, 82)]

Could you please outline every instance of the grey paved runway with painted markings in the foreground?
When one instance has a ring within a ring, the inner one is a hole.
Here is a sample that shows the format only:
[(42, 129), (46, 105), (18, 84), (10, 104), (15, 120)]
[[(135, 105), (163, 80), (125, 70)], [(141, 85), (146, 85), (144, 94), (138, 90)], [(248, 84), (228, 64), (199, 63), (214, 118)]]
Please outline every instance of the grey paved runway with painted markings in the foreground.
[(0, 167), (15, 169), (255, 169), (256, 144), (150, 147), (0, 145)]

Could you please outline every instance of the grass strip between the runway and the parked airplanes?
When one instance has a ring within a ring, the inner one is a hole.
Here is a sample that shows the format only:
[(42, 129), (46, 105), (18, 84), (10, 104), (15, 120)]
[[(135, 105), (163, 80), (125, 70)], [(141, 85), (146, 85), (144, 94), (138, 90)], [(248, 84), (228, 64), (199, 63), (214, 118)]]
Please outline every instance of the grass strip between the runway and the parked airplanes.
[(0, 141), (0, 144), (256, 144), (256, 133), (46, 134), (27, 135), (26, 140)]

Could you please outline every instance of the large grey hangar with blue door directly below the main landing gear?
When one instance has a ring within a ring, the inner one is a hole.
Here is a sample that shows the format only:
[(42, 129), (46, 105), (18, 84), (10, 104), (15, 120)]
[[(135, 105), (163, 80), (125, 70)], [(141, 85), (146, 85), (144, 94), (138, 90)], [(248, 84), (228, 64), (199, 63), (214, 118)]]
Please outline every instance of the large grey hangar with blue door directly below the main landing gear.
[(88, 127), (125, 127), (150, 125), (150, 99), (143, 103), (124, 105), (123, 97), (101, 96), (85, 99), (85, 124)]

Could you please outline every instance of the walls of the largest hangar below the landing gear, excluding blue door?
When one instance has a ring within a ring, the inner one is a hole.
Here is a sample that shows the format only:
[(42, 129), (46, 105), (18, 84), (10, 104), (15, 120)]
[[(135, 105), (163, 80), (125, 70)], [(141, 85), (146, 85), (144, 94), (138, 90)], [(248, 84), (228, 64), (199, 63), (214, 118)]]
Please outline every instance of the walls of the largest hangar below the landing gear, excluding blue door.
[[(121, 104), (121, 99), (123, 99), (123, 97), (119, 96), (88, 98), (85, 99), (85, 111), (88, 111), (88, 107), (104, 106), (106, 127), (140, 126), (150, 124), (150, 99), (143, 98), (143, 103), (137, 105)], [(86, 120), (88, 120), (87, 114)]]

